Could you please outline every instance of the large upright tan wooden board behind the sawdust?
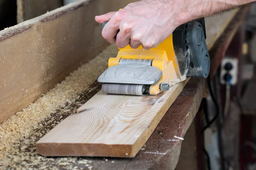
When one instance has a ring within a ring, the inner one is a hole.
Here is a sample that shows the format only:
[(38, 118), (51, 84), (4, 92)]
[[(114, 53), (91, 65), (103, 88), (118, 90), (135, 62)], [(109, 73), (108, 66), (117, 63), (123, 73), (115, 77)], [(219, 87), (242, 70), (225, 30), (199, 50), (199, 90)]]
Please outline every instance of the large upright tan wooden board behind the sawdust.
[(0, 123), (108, 46), (94, 16), (132, 1), (81, 0), (0, 31)]

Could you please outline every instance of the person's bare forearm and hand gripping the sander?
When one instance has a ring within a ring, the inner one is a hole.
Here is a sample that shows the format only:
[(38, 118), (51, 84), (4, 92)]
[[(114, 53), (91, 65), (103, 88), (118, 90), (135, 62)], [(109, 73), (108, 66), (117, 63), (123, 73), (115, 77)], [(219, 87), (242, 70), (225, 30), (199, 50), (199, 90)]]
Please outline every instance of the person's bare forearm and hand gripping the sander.
[(181, 24), (256, 0), (139, 0), (120, 11), (96, 16), (108, 21), (102, 36), (119, 48), (157, 47)]

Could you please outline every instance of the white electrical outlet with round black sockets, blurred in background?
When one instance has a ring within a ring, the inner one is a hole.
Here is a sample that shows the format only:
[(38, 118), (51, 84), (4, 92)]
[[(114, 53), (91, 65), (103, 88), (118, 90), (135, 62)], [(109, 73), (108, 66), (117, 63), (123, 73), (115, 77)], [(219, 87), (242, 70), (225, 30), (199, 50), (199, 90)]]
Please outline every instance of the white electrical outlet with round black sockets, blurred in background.
[(230, 84), (236, 85), (238, 75), (238, 59), (225, 57), (221, 63), (221, 84), (226, 84), (225, 78), (230, 78)]

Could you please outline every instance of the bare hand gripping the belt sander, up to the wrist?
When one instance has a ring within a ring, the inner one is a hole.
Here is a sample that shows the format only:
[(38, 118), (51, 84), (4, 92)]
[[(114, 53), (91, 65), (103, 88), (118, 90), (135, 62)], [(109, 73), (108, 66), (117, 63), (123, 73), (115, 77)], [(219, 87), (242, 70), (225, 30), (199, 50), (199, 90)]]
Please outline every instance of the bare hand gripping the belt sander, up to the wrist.
[(127, 45), (138, 48), (142, 45), (150, 49), (157, 47), (182, 24), (176, 22), (179, 12), (170, 8), (167, 2), (169, 0), (141, 0), (130, 3), (120, 11), (96, 16), (95, 20), (98, 23), (108, 21), (102, 36), (108, 42), (116, 43), (119, 48)]

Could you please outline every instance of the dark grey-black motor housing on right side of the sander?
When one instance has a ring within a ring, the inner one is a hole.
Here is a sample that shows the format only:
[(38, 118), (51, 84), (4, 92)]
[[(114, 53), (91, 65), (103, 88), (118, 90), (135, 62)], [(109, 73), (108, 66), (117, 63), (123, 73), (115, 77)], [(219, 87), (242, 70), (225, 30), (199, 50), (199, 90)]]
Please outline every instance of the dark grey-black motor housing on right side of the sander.
[(207, 78), (210, 69), (204, 18), (185, 23), (173, 32), (173, 46), (180, 74)]

